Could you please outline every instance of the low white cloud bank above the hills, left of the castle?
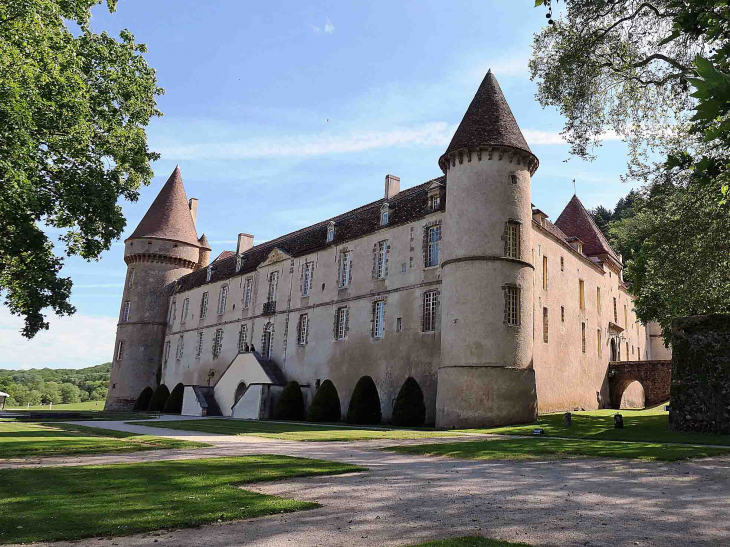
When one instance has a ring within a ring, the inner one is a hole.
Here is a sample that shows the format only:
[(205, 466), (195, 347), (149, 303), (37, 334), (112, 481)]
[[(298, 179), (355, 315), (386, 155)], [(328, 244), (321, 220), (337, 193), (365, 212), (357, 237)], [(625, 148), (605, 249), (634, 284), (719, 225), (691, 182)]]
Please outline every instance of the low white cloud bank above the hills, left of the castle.
[(0, 306), (0, 368), (83, 368), (111, 361), (116, 317), (75, 314), (48, 318), (50, 329), (32, 340), (20, 335), (23, 319)]

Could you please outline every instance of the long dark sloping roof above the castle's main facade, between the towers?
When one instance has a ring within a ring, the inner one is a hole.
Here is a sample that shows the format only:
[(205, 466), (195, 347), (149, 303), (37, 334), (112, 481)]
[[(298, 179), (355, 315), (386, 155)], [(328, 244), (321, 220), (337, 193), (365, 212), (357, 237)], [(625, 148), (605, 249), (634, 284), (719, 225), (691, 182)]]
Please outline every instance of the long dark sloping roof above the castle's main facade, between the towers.
[[(446, 177), (437, 177), (429, 181), (402, 190), (398, 195), (388, 200), (390, 214), (388, 215), (388, 228), (399, 224), (406, 224), (422, 218), (427, 213), (428, 187), (433, 182), (446, 183)], [(331, 219), (314, 224), (307, 228), (297, 230), (290, 234), (269, 240), (260, 245), (251, 247), (241, 255), (241, 269), (236, 272), (236, 255), (229, 257), (219, 256), (211, 263), (211, 283), (223, 281), (236, 275), (246, 274), (254, 271), (259, 264), (264, 262), (274, 248), (297, 257), (318, 251), (333, 245), (341, 245), (346, 241), (358, 239), (372, 234), (380, 226), (380, 207), (385, 199), (379, 199), (347, 213)], [(444, 210), (445, 202), (441, 201), (441, 210)], [(327, 243), (327, 225), (330, 221), (335, 223), (335, 237), (331, 243)], [(206, 268), (189, 273), (181, 277), (174, 285), (174, 292), (189, 291), (195, 287), (206, 284)]]

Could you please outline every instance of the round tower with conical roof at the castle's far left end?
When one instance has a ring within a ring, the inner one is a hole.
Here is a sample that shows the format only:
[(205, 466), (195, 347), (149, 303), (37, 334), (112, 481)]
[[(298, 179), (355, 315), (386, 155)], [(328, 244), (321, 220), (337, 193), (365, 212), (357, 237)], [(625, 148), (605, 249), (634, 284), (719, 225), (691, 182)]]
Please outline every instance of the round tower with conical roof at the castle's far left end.
[(132, 408), (140, 393), (159, 383), (168, 285), (199, 268), (193, 205), (179, 167), (170, 175), (132, 235), (124, 241), (127, 277), (117, 324), (105, 410)]

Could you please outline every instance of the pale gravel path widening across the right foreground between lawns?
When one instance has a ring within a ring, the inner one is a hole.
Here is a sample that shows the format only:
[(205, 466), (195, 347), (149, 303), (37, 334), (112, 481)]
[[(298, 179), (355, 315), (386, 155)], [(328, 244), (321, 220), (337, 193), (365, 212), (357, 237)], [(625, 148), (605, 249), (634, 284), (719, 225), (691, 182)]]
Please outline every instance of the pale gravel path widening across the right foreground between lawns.
[[(170, 430), (154, 431), (166, 436)], [(219, 441), (218, 436), (209, 435), (200, 439)], [(317, 501), (323, 505), (320, 509), (196, 529), (52, 545), (364, 547), (408, 545), (467, 534), (536, 546), (730, 544), (730, 458), (680, 463), (478, 462), (376, 450), (422, 442), (304, 443), (236, 437), (235, 442), (221, 441), (214, 449), (174, 451), (181, 453), (177, 457), (194, 453), (196, 458), (206, 453), (287, 454), (353, 463), (369, 471), (246, 486), (266, 494)], [(149, 461), (175, 456), (172, 452), (106, 458), (126, 461), (138, 456)], [(78, 465), (102, 463), (100, 458), (64, 460), (83, 460), (66, 463)]]

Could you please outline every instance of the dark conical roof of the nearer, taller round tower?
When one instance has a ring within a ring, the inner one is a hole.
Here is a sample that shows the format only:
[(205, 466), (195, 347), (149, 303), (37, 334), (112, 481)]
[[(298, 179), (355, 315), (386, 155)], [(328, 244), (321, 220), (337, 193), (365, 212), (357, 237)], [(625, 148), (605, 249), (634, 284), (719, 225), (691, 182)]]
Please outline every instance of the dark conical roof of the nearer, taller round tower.
[(485, 145), (509, 146), (532, 154), (491, 70), (482, 80), (441, 158), (462, 148)]

